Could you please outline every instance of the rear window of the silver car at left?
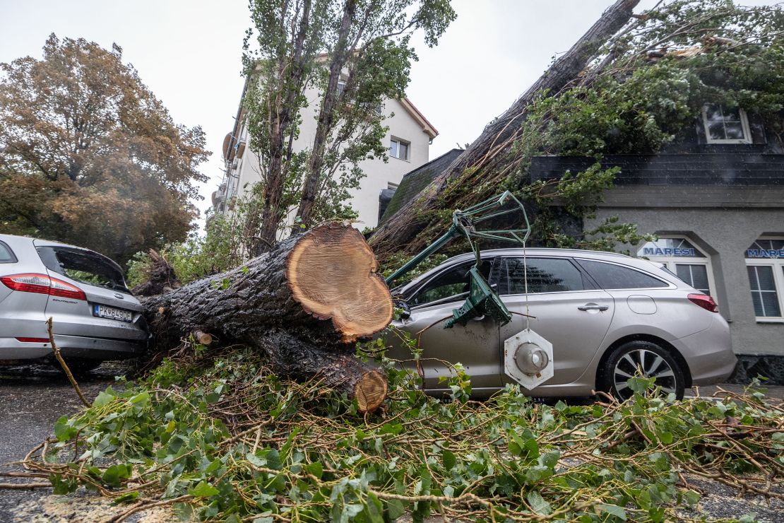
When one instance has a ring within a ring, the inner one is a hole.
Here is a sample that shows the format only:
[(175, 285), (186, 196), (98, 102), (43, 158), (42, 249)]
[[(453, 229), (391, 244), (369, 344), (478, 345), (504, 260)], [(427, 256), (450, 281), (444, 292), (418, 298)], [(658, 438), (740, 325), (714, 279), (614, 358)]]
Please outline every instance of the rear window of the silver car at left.
[(39, 247), (38, 255), (51, 271), (72, 280), (128, 292), (122, 272), (103, 256), (67, 247)]

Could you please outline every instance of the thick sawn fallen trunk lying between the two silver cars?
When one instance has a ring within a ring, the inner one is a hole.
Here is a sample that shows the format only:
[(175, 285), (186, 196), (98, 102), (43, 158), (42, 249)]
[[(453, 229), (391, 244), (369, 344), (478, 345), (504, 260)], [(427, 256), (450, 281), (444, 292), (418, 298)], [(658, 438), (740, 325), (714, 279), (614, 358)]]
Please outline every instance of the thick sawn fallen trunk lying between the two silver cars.
[(324, 380), (362, 411), (387, 395), (384, 376), (354, 357), (354, 342), (389, 324), (392, 300), (372, 250), (349, 225), (316, 227), (244, 267), (143, 303), (158, 348), (188, 336), (246, 343), (266, 352), (279, 376)]

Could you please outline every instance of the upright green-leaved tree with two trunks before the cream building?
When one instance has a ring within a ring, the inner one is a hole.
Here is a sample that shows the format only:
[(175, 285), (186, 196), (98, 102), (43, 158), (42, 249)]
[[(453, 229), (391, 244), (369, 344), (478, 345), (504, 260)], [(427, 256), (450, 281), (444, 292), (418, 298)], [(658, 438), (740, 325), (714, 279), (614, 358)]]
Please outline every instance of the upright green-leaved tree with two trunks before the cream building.
[[(387, 150), (379, 107), (405, 96), (412, 31), (435, 45), (455, 13), (448, 0), (252, 0), (250, 9), (245, 103), (263, 185), (253, 252), (295, 209), (304, 228), (353, 216), (345, 201), (363, 176), (358, 163)], [(320, 93), (314, 142), (295, 152), (310, 87)]]

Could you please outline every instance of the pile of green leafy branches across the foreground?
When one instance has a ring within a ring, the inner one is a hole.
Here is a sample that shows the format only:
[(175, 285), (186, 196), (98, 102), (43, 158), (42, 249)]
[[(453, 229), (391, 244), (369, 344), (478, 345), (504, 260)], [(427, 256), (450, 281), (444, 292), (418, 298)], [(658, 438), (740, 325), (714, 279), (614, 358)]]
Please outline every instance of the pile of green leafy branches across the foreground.
[(389, 398), (362, 415), (255, 350), (179, 358), (61, 418), (25, 474), (127, 503), (113, 521), (164, 505), (210, 521), (672, 521), (699, 516), (696, 477), (784, 499), (784, 405), (760, 391), (675, 401), (639, 378), (624, 403), (542, 405), (517, 387), (475, 402), (457, 366), (439, 400), (382, 360)]

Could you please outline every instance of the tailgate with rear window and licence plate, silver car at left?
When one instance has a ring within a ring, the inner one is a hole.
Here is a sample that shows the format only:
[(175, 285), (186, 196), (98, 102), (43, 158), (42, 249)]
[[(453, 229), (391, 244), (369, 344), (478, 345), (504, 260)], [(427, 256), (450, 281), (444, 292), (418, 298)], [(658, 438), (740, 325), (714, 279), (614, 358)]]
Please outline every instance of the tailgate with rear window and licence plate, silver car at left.
[[(60, 245), (38, 245), (37, 250), (49, 276), (85, 293), (86, 300), (49, 296), (45, 315), (53, 318), (54, 334), (140, 342), (146, 339), (143, 307), (125, 289), (122, 272), (113, 262), (91, 251)], [(120, 316), (101, 317), (118, 311), (127, 311), (129, 321)]]

